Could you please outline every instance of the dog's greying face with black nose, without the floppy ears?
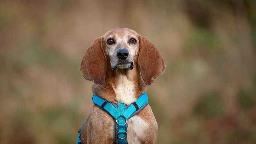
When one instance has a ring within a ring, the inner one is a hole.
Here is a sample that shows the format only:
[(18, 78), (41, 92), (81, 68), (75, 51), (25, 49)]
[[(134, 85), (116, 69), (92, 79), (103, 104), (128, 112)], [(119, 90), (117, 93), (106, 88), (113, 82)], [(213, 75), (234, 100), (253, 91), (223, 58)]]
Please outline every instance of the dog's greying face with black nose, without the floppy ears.
[(134, 58), (139, 53), (139, 35), (131, 29), (112, 29), (102, 36), (111, 68), (133, 69)]

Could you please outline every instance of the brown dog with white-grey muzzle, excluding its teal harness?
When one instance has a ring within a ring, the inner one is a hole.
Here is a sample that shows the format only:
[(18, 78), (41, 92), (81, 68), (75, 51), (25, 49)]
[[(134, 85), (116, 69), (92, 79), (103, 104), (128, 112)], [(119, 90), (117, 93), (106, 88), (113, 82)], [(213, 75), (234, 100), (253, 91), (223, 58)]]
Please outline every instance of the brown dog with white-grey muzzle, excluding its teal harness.
[[(80, 64), (83, 77), (93, 81), (92, 92), (108, 103), (131, 105), (147, 91), (152, 78), (165, 71), (163, 57), (147, 37), (132, 29), (111, 29), (96, 38)], [(158, 125), (149, 105), (127, 121), (127, 141), (155, 144)], [(82, 144), (117, 143), (115, 120), (98, 105), (80, 131)]]

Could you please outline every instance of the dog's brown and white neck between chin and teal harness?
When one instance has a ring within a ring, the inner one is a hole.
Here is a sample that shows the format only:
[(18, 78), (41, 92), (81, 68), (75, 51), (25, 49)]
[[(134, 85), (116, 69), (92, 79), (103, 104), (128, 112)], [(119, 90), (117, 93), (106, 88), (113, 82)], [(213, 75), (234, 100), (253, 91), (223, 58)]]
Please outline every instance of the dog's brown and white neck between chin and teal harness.
[(139, 67), (135, 64), (131, 69), (108, 67), (105, 83), (93, 84), (92, 91), (111, 103), (131, 104), (147, 91), (147, 85), (141, 78)]

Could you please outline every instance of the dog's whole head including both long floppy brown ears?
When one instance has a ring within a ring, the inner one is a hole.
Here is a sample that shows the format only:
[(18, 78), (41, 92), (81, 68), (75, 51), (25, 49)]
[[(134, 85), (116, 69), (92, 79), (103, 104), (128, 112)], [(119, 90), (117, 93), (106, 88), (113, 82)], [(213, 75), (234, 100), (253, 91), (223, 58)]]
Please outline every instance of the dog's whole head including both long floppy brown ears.
[(85, 79), (104, 84), (109, 64), (113, 71), (132, 70), (137, 64), (147, 85), (154, 82), (152, 77), (156, 79), (165, 71), (164, 60), (155, 45), (128, 28), (111, 29), (95, 39), (84, 54), (80, 70)]

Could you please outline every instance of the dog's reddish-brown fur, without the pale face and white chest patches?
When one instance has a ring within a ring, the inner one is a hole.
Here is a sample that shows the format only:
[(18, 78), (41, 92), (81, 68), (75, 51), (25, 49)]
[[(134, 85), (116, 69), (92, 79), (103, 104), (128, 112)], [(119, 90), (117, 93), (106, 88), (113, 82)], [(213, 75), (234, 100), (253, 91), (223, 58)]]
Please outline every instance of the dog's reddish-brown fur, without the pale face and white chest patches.
[[(109, 35), (123, 36), (125, 33), (132, 33), (138, 40), (138, 46), (135, 49), (135, 56), (133, 59), (134, 68), (113, 70), (110, 66), (111, 59), (107, 54), (108, 51), (105, 43), (106, 37)], [(153, 83), (153, 80), (151, 80), (152, 77), (156, 78), (164, 73), (165, 64), (160, 52), (146, 37), (138, 35), (131, 29), (112, 29), (104, 36), (93, 41), (93, 44), (84, 54), (80, 70), (83, 72), (85, 79), (94, 81), (95, 84), (92, 86), (93, 93), (108, 102), (118, 103), (119, 101), (117, 100), (115, 89), (118, 87), (117, 81), (119, 81), (119, 76), (126, 76), (129, 81), (132, 81), (134, 85), (133, 92), (137, 99), (147, 91), (147, 85)], [(150, 126), (147, 127), (147, 131), (145, 131), (143, 138), (138, 138), (138, 142), (133, 142), (156, 143), (157, 123), (151, 107), (149, 105), (146, 106), (136, 116), (140, 117)], [(130, 119), (128, 120), (128, 123), (132, 123)], [(81, 140), (83, 144), (112, 144), (114, 139), (115, 130), (112, 116), (94, 105), (92, 113), (81, 132)], [(129, 132), (128, 139), (133, 140), (133, 137), (129, 135)]]

